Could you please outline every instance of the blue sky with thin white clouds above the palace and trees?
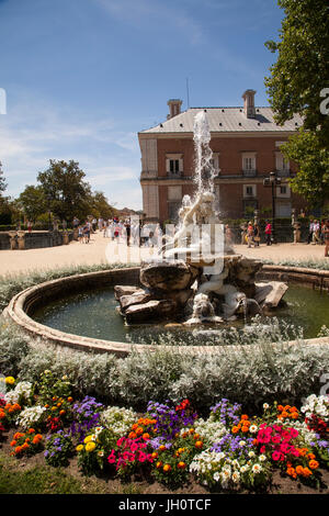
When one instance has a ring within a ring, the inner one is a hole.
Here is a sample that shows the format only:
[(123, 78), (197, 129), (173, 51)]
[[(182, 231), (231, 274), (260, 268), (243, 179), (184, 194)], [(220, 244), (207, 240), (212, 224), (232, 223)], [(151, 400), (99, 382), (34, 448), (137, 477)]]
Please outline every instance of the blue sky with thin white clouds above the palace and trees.
[(167, 101), (268, 105), (283, 12), (276, 0), (0, 0), (0, 160), (8, 194), (49, 159), (75, 159), (93, 190), (141, 209), (137, 133)]

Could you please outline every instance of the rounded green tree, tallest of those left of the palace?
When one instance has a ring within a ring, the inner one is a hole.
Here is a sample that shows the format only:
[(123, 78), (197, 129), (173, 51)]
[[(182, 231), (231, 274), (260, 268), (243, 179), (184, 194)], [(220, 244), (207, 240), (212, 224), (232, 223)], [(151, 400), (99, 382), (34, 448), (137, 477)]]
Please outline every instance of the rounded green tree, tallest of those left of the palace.
[(89, 214), (91, 188), (84, 177), (73, 160), (50, 159), (48, 169), (38, 173), (47, 206), (56, 217), (71, 221), (75, 215), (83, 218)]

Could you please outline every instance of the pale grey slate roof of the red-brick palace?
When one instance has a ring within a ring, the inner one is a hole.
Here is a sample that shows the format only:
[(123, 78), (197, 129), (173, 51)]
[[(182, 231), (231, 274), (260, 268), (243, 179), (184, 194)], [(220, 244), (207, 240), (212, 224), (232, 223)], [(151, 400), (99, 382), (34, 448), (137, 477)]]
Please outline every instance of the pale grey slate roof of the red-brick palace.
[(194, 117), (204, 110), (211, 132), (216, 133), (294, 132), (303, 124), (302, 117), (295, 115), (284, 125), (276, 125), (271, 108), (256, 108), (254, 119), (247, 119), (242, 108), (190, 108), (155, 127), (140, 131), (139, 134), (193, 133)]

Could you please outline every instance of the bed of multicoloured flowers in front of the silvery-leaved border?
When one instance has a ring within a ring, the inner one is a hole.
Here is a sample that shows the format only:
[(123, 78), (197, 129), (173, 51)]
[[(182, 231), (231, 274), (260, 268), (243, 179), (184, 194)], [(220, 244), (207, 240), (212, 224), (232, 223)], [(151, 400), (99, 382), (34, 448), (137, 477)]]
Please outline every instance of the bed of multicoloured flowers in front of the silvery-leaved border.
[(143, 414), (73, 400), (73, 385), (50, 371), (34, 383), (8, 377), (5, 386), (0, 433), (15, 428), (10, 447), (18, 458), (43, 452), (47, 464), (65, 467), (76, 455), (86, 475), (236, 492), (266, 490), (277, 471), (319, 489), (328, 470), (329, 396), (311, 394), (299, 410), (265, 403), (257, 415), (224, 399), (204, 418), (189, 400), (150, 401)]

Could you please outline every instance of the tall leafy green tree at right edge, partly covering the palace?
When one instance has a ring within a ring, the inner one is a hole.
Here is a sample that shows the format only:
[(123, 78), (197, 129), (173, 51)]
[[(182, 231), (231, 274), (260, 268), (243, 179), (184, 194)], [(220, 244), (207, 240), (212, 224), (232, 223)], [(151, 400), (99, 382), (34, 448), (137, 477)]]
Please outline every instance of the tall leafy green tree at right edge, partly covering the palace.
[(328, 197), (329, 159), (329, 116), (321, 109), (329, 87), (328, 2), (277, 0), (277, 3), (285, 18), (280, 41), (265, 43), (271, 52), (277, 53), (265, 86), (276, 123), (284, 124), (296, 113), (303, 117), (304, 128), (282, 147), (285, 157), (293, 159), (299, 169), (291, 181), (292, 189), (311, 204), (324, 204)]

